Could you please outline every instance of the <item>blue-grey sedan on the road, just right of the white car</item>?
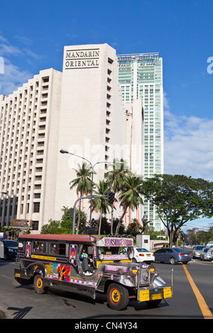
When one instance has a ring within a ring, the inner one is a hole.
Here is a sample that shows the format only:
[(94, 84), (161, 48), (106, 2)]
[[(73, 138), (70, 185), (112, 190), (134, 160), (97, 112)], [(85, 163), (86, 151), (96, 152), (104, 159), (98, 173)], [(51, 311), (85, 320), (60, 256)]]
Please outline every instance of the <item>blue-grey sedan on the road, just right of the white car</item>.
[(182, 264), (187, 264), (191, 260), (191, 254), (178, 249), (177, 247), (163, 247), (158, 249), (154, 253), (155, 261), (169, 262), (170, 264), (176, 264), (177, 262), (182, 262)]

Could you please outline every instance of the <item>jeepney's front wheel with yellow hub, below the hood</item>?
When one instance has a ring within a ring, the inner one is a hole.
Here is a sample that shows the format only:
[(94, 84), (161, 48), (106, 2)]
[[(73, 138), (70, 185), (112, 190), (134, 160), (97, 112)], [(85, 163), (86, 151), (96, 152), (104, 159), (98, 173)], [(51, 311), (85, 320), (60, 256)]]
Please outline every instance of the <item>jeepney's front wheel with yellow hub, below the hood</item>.
[(129, 303), (129, 291), (117, 283), (111, 283), (107, 290), (107, 300), (112, 310), (124, 310)]

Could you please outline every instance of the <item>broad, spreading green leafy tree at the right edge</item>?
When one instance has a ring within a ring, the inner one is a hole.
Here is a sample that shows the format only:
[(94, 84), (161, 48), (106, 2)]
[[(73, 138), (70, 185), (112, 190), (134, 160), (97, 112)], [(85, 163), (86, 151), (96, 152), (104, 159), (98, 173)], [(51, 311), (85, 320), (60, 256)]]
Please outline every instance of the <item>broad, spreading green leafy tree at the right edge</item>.
[(156, 205), (158, 216), (178, 239), (182, 225), (186, 222), (213, 215), (213, 183), (204, 179), (193, 179), (184, 175), (155, 175), (143, 182), (143, 194)]

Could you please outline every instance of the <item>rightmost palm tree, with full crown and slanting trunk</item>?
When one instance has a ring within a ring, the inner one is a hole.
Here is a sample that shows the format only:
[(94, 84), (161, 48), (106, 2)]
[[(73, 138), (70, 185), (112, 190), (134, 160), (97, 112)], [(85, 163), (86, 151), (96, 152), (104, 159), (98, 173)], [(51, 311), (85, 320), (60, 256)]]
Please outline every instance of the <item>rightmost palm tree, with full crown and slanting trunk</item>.
[(137, 209), (138, 206), (143, 203), (142, 195), (142, 178), (141, 176), (134, 176), (129, 173), (124, 180), (124, 183), (121, 185), (121, 194), (120, 198), (120, 206), (123, 206), (124, 211), (121, 215), (118, 225), (116, 226), (116, 235), (119, 233), (119, 228), (121, 226), (121, 222), (124, 218), (126, 210), (129, 209)]

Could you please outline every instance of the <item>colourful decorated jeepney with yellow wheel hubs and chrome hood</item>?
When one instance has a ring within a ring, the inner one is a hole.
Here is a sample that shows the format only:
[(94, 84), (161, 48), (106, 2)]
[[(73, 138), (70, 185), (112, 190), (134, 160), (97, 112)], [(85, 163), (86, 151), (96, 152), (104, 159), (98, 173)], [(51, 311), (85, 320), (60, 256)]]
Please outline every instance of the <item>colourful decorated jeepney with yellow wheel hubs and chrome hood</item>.
[[(92, 274), (82, 271), (82, 250), (92, 257)], [(124, 251), (126, 249), (126, 251)], [(124, 309), (129, 298), (158, 305), (172, 297), (153, 264), (136, 264), (133, 239), (89, 235), (22, 235), (14, 278), (21, 285), (33, 283), (36, 293), (62, 288), (89, 295), (107, 294), (109, 307)]]

